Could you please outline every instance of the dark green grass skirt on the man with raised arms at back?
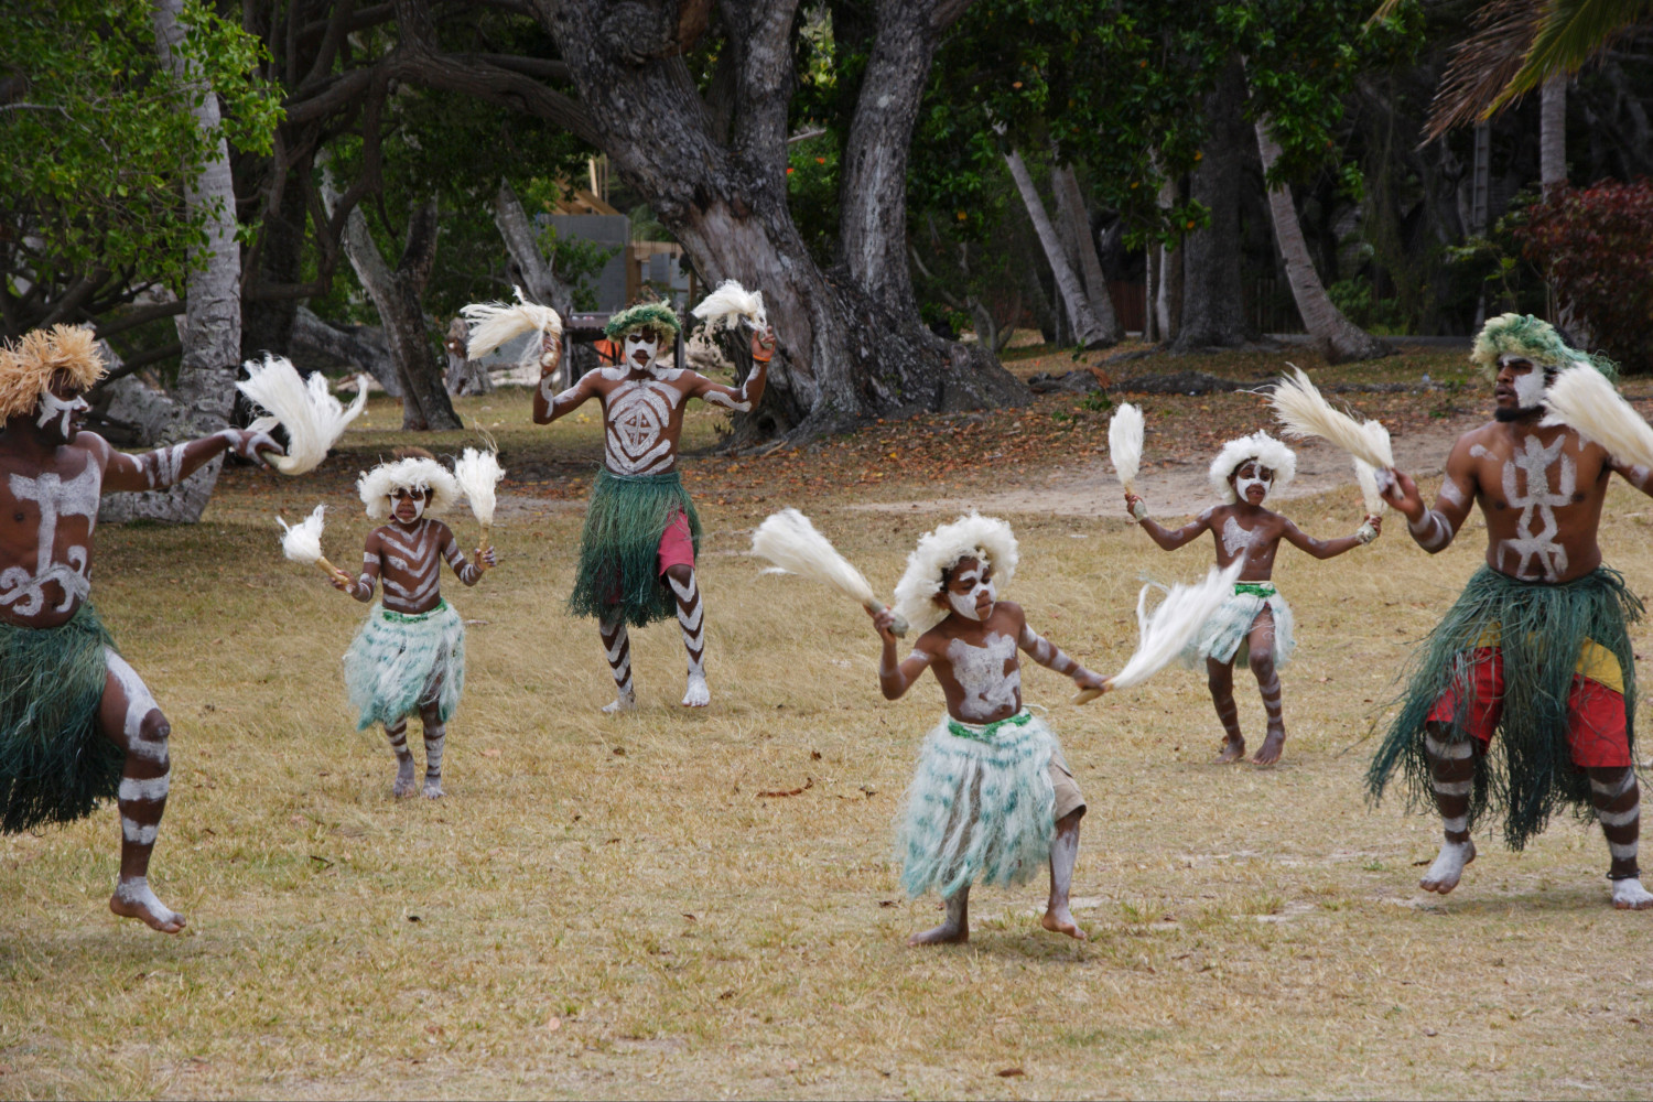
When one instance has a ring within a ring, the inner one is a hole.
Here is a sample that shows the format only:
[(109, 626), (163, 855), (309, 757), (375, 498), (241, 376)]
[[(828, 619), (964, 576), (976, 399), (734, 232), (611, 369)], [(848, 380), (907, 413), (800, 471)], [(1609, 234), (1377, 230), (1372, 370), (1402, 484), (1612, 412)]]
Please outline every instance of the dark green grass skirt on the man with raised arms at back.
[(636, 476), (598, 471), (585, 507), (569, 611), (607, 621), (618, 606), (636, 628), (676, 620), (678, 601), (660, 580), (660, 537), (679, 511), (689, 519), (699, 555), (701, 519), (676, 471)]

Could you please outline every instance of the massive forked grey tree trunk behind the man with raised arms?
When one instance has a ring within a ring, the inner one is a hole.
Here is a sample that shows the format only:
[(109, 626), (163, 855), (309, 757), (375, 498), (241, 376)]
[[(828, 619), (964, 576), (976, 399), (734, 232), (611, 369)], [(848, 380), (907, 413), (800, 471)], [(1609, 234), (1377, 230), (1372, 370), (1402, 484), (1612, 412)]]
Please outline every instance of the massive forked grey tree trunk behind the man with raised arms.
[[(780, 349), (762, 403), (736, 421), (737, 441), (802, 439), (874, 415), (1027, 400), (1027, 388), (990, 354), (944, 342), (924, 330), (916, 311), (893, 306), (903, 297), (903, 281), (911, 302), (904, 235), (896, 235), (894, 256), (863, 249), (846, 271), (825, 273), (810, 258), (787, 210), (785, 185), (797, 0), (721, 5), (727, 40), (719, 64), (727, 66), (734, 104), (727, 139), (681, 58), (676, 5), (536, 0), (536, 8), (569, 63), (610, 164), (648, 198), (709, 284), (736, 278), (764, 291)], [(929, 10), (936, 25), (942, 8), (962, 10), (962, 3), (886, 0), (878, 35), (903, 25), (903, 13), (917, 18)], [(874, 43), (871, 56), (886, 48)], [(906, 83), (922, 88), (927, 71), (926, 63), (898, 74), (903, 86), (888, 89), (886, 109), (907, 94)], [(879, 96), (869, 101), (874, 109)], [(858, 121), (866, 109), (863, 97)], [(884, 119), (874, 131), (906, 145), (911, 119), (898, 132), (899, 126), (899, 117)], [(856, 203), (876, 205), (888, 233), (904, 225), (904, 183), (888, 180), (861, 188)]]

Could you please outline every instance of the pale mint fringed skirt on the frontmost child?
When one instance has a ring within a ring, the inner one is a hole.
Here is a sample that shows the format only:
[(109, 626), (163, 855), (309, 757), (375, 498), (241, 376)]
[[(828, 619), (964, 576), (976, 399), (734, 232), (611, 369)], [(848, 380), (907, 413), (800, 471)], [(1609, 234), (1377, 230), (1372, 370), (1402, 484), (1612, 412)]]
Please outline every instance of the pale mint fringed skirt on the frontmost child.
[[(962, 735), (962, 737), (960, 737)], [(907, 788), (898, 853), (909, 897), (1025, 884), (1050, 857), (1056, 735), (1023, 709), (975, 727), (942, 717)]]

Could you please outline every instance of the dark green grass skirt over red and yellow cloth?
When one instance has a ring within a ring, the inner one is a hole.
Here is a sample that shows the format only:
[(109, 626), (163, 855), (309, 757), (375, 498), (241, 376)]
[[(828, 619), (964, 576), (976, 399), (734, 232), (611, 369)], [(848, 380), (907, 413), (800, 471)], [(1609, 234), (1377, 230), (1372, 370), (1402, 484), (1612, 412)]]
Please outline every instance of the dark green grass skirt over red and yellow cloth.
[[(1516, 582), (1488, 567), (1476, 570), (1445, 620), (1413, 651), (1400, 714), (1367, 770), (1372, 800), (1384, 795), (1398, 770), (1410, 806), (1433, 808), (1423, 724), (1468, 664), (1470, 651), (1496, 638), (1504, 654), (1504, 712), (1489, 752), (1474, 760), (1470, 828), (1488, 811), (1503, 815), (1504, 841), (1521, 849), (1564, 806), (1590, 818), (1590, 781), (1572, 765), (1567, 748), (1567, 697), (1584, 644), (1593, 639), (1623, 671), (1627, 735), (1635, 747), (1636, 667), (1625, 625), (1640, 618), (1641, 601), (1625, 587), (1623, 575), (1607, 567), (1565, 585)], [(1466, 725), (1468, 696), (1458, 694), (1451, 743), (1473, 737)]]

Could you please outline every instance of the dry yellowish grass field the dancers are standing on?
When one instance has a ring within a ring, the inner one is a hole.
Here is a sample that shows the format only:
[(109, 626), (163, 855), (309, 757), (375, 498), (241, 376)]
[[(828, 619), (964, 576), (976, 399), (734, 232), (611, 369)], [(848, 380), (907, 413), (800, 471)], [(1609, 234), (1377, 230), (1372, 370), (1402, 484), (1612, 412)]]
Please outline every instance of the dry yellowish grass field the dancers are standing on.
[[(1598, 829), (1560, 821), (1524, 854), (1483, 838), (1441, 899), (1415, 887), (1436, 824), (1364, 800), (1369, 732), (1408, 646), (1474, 568), (1479, 525), (1435, 558), (1393, 517), (1341, 560), (1281, 553), (1299, 651), (1274, 770), (1210, 763), (1218, 727), (1193, 672), (1076, 709), (1066, 681), (1030, 669), (1027, 699), (1050, 709), (1089, 800), (1074, 912), (1091, 940), (1038, 929), (1041, 877), (977, 892), (969, 945), (911, 950), (937, 900), (899, 894), (891, 824), (941, 694), (926, 682), (884, 702), (866, 616), (744, 550), (764, 512), (798, 504), (888, 590), (914, 539), (949, 519), (922, 507), (941, 477), (922, 449), (886, 458), (878, 486), (810, 476), (808, 454), (689, 458), (712, 705), (678, 707), (683, 649), (660, 625), (633, 634), (641, 709), (612, 720), (595, 628), (562, 611), (598, 425), (534, 428), (516, 392), (461, 406), (494, 426), (519, 479), (499, 568), (474, 590), (450, 575), (469, 674), (441, 801), (392, 800), (390, 752), (354, 730), (339, 677), (364, 608), (284, 562), (273, 520), (331, 502), (324, 545), (354, 563), (367, 520), (350, 481), (397, 439), (390, 403), (309, 479), (231, 471), (197, 527), (99, 534), (94, 600), (174, 724), (152, 881), (190, 929), (169, 938), (107, 914), (114, 808), (0, 839), (0, 1095), (1653, 1089), (1653, 914), (1608, 907)], [(1046, 466), (1096, 459), (1106, 416), (1063, 425), (1071, 449)], [(714, 431), (693, 415), (689, 446)], [(1015, 463), (965, 464), (946, 496), (1043, 471)], [(868, 497), (912, 506), (858, 509)], [(1284, 511), (1347, 532), (1359, 496)], [(1139, 575), (1192, 578), (1210, 558), (1203, 544), (1165, 555), (1116, 512), (1045, 515), (1031, 491), (1010, 519), (1023, 558), (1007, 596), (1103, 671), (1134, 646)], [(1650, 524), (1653, 502), (1613, 491), (1602, 540), (1641, 593)], [(455, 527), (474, 539), (468, 517)], [(1635, 638), (1645, 648), (1648, 628)], [(1248, 676), (1238, 689), (1255, 747), (1261, 705)]]

